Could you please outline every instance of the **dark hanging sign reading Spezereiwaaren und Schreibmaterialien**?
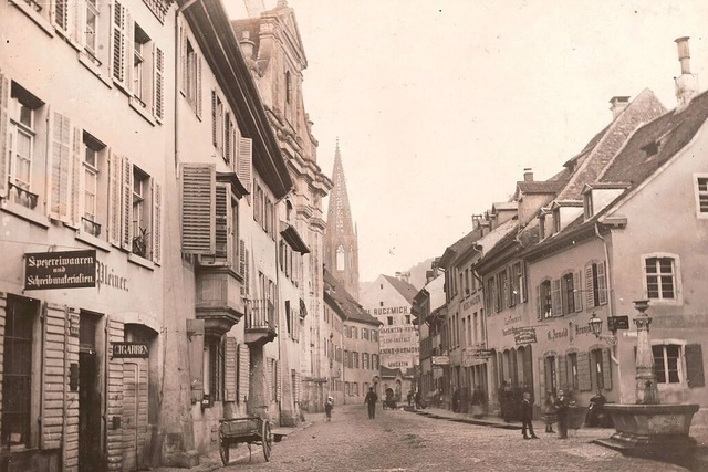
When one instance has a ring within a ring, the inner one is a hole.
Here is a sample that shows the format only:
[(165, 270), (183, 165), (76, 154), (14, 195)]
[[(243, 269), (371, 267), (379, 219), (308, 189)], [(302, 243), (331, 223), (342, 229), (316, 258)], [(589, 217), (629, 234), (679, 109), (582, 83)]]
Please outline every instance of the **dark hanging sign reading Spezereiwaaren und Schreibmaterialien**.
[(96, 250), (24, 254), (24, 290), (96, 286)]

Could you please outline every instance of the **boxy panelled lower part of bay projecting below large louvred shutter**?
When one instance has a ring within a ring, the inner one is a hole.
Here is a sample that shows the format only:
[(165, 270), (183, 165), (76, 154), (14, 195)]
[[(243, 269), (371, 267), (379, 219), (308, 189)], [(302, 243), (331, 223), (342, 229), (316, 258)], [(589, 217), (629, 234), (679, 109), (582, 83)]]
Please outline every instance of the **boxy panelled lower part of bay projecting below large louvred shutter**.
[(205, 321), (207, 337), (220, 337), (246, 314), (243, 279), (225, 264), (198, 264), (196, 272), (197, 319)]

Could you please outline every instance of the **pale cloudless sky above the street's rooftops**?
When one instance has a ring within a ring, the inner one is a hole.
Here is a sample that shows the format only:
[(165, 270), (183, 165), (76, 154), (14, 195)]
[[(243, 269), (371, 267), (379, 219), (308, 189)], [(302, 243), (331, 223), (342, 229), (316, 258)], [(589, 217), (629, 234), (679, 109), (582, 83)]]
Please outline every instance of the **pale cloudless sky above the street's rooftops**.
[(691, 72), (708, 84), (706, 0), (288, 4), (327, 176), (340, 143), (363, 282), (442, 255), (524, 168), (559, 172), (611, 122), (613, 96), (649, 88), (674, 108), (675, 39), (690, 38)]

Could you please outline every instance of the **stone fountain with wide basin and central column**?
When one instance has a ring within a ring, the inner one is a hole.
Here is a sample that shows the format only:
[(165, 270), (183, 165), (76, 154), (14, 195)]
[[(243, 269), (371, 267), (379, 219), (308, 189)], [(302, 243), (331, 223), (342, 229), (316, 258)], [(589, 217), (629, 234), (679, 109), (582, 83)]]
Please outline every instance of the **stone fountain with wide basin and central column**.
[(689, 457), (696, 440), (689, 436), (690, 422), (698, 405), (662, 405), (654, 373), (654, 355), (649, 343), (652, 318), (648, 300), (634, 302), (639, 312), (636, 354), (636, 403), (605, 405), (615, 423), (615, 433), (597, 442), (625, 453), (680, 462)]

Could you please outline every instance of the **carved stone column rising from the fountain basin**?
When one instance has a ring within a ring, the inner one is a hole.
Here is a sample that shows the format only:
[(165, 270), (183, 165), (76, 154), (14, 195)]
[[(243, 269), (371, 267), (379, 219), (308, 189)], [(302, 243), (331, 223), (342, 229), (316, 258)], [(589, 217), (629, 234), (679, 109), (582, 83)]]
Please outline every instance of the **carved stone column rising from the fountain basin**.
[(637, 325), (637, 359), (636, 359), (636, 402), (637, 405), (658, 405), (659, 390), (654, 374), (654, 354), (649, 343), (649, 324), (652, 318), (647, 315), (648, 300), (634, 301), (635, 308), (639, 312), (634, 323)]

